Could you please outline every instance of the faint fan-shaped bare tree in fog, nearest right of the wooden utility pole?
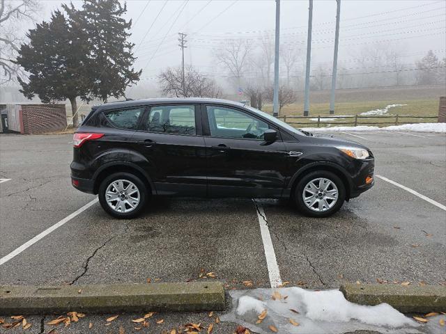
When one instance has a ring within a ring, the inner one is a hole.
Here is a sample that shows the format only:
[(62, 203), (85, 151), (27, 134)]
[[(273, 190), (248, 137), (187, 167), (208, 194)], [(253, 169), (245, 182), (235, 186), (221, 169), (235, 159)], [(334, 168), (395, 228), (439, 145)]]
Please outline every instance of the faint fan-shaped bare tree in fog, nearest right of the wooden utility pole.
[(236, 79), (238, 87), (241, 85), (241, 78), (246, 70), (247, 58), (252, 49), (251, 45), (249, 40), (225, 40), (214, 51), (217, 62), (226, 67), (229, 75)]

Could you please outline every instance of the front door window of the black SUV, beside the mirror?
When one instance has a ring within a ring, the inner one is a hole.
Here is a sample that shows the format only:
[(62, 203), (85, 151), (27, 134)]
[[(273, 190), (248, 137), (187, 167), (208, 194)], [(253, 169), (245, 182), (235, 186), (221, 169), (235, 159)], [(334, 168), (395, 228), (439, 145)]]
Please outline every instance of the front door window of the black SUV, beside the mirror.
[(268, 124), (243, 111), (224, 106), (206, 106), (210, 135), (223, 138), (263, 139)]

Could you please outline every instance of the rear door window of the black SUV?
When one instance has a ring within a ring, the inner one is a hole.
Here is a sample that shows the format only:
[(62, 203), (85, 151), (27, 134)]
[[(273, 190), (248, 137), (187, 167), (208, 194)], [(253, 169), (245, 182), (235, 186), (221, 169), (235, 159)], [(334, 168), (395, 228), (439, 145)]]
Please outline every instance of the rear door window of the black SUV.
[(153, 106), (148, 115), (149, 132), (164, 132), (167, 134), (197, 134), (195, 127), (195, 107), (183, 106)]

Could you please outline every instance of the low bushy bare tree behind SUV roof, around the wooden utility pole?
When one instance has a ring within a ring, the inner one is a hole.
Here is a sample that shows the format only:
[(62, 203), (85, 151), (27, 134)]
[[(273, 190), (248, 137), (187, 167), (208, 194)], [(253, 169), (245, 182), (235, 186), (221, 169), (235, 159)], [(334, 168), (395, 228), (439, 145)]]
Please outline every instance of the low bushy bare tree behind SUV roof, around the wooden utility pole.
[(200, 74), (192, 66), (185, 67), (183, 85), (183, 70), (181, 67), (167, 67), (158, 76), (164, 95), (175, 97), (220, 97), (222, 90), (213, 79)]

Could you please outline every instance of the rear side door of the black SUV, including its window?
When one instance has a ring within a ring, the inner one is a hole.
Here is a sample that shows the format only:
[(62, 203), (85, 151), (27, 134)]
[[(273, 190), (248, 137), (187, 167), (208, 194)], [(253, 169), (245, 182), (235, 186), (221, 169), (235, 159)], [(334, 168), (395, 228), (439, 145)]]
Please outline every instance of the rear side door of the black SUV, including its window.
[(131, 159), (146, 170), (159, 195), (206, 196), (206, 151), (199, 107), (147, 108), (133, 140)]

